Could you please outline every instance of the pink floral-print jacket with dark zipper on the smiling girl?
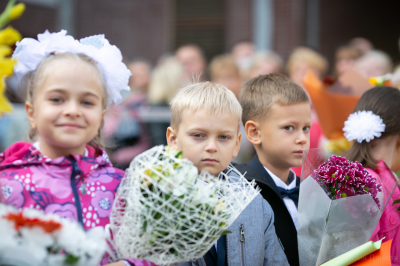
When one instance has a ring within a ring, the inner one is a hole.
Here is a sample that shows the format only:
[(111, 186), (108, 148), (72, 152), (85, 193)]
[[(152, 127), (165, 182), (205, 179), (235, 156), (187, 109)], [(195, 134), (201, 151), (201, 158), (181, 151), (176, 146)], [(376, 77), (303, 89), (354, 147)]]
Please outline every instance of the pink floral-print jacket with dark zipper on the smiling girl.
[[(88, 156), (51, 159), (32, 144), (17, 142), (0, 153), (0, 202), (41, 209), (80, 222), (87, 230), (110, 222), (111, 207), (124, 171), (107, 154), (86, 146)], [(82, 193), (82, 182), (86, 193)], [(128, 260), (133, 265), (154, 265)], [(103, 260), (102, 264), (107, 263)]]

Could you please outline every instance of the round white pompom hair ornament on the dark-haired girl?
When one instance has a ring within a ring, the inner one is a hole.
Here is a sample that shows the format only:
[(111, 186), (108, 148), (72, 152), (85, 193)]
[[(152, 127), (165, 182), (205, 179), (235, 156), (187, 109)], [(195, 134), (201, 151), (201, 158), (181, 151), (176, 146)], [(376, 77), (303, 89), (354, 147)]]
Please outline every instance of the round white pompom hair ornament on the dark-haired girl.
[(344, 122), (344, 136), (349, 140), (363, 140), (369, 142), (374, 138), (379, 138), (385, 131), (385, 124), (380, 116), (372, 111), (358, 111), (353, 113)]

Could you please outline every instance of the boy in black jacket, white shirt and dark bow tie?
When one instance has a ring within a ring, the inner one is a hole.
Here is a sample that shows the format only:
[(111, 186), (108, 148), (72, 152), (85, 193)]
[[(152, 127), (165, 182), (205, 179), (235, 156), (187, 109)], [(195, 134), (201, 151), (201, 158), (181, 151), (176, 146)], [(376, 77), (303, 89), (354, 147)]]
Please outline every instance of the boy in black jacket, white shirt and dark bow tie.
[(297, 201), (300, 166), (310, 147), (311, 108), (305, 91), (281, 74), (250, 79), (240, 94), (246, 137), (257, 155), (236, 168), (255, 180), (275, 214), (275, 229), (290, 265), (299, 265)]

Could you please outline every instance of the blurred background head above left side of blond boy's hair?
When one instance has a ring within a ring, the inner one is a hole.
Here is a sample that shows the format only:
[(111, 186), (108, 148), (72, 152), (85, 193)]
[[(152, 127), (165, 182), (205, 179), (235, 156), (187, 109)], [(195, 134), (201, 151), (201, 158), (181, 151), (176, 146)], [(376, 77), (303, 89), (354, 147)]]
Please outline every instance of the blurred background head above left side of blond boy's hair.
[(187, 79), (193, 78), (202, 81), (205, 79), (205, 70), (207, 67), (206, 58), (203, 50), (194, 44), (183, 45), (179, 47), (175, 56), (183, 65)]

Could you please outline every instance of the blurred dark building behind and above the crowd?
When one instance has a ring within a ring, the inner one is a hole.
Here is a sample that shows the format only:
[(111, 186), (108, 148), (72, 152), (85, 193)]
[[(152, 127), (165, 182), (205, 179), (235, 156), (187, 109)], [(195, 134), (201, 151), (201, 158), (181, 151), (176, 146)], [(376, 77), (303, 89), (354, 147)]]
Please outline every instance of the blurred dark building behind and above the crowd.
[[(24, 36), (67, 29), (81, 38), (104, 33), (125, 58), (155, 62), (181, 44), (208, 59), (242, 40), (287, 58), (307, 45), (333, 58), (353, 37), (365, 37), (399, 61), (400, 1), (378, 0), (24, 0), (13, 25)], [(4, 8), (7, 1), (0, 2)]]

